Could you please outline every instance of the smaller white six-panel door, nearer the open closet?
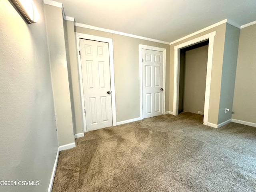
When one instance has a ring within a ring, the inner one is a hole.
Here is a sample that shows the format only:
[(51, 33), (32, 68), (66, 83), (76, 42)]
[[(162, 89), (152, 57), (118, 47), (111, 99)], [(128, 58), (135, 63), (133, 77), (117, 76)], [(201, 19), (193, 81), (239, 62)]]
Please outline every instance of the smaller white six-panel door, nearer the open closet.
[(163, 52), (142, 49), (143, 118), (162, 114)]

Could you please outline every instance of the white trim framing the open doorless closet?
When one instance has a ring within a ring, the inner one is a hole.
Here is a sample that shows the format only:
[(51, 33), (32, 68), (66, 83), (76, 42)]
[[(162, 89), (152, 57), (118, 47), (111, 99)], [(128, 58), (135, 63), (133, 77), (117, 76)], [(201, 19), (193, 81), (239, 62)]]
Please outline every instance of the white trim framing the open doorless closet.
[(214, 46), (215, 35), (216, 35), (216, 31), (200, 36), (198, 38), (192, 39), (190, 41), (184, 42), (177, 46), (174, 46), (173, 114), (178, 115), (178, 110), (179, 110), (178, 98), (179, 98), (179, 86), (180, 86), (180, 49), (191, 46), (193, 44), (197, 44), (207, 39), (209, 40), (207, 72), (206, 72), (206, 88), (205, 88), (205, 99), (204, 99), (204, 124), (205, 125), (208, 125), (210, 86), (211, 86), (211, 76), (212, 76), (212, 56), (213, 56), (213, 46)]

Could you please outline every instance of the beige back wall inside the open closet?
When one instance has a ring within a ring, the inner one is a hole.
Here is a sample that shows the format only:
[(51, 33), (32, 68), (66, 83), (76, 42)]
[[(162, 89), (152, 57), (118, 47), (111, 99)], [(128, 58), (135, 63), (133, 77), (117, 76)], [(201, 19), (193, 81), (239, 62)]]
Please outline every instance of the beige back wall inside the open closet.
[(183, 111), (204, 113), (207, 58), (208, 45), (184, 50)]

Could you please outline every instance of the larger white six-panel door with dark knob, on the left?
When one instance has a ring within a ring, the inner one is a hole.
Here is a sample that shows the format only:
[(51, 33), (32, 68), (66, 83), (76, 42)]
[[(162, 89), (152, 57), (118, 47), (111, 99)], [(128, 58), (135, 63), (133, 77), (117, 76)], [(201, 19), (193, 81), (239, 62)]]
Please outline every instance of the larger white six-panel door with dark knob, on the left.
[(113, 125), (108, 43), (79, 39), (87, 131)]

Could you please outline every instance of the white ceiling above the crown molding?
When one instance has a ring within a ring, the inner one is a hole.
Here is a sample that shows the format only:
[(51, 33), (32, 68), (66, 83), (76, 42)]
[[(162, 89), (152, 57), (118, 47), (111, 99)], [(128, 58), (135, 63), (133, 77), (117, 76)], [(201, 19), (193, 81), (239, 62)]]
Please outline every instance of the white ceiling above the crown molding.
[(256, 0), (57, 0), (82, 24), (172, 42), (228, 19), (256, 20)]

